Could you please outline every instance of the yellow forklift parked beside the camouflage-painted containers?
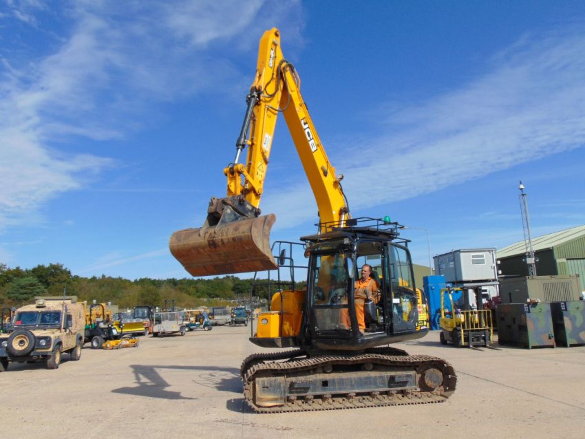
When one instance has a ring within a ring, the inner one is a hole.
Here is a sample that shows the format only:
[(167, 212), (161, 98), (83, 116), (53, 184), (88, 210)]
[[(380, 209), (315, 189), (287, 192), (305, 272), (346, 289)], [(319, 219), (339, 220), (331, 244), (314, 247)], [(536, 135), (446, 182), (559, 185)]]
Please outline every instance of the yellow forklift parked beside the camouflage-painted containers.
[[(462, 293), (463, 303), (453, 300), (455, 291)], [(491, 310), (481, 309), (483, 307), (481, 287), (476, 286), (473, 291), (476, 295), (477, 309), (472, 309), (470, 306), (467, 289), (450, 287), (441, 289), (441, 319), (439, 320), (441, 344), (452, 343), (474, 349), (494, 348), (491, 346), (494, 338)], [(460, 309), (461, 306), (464, 309)]]

